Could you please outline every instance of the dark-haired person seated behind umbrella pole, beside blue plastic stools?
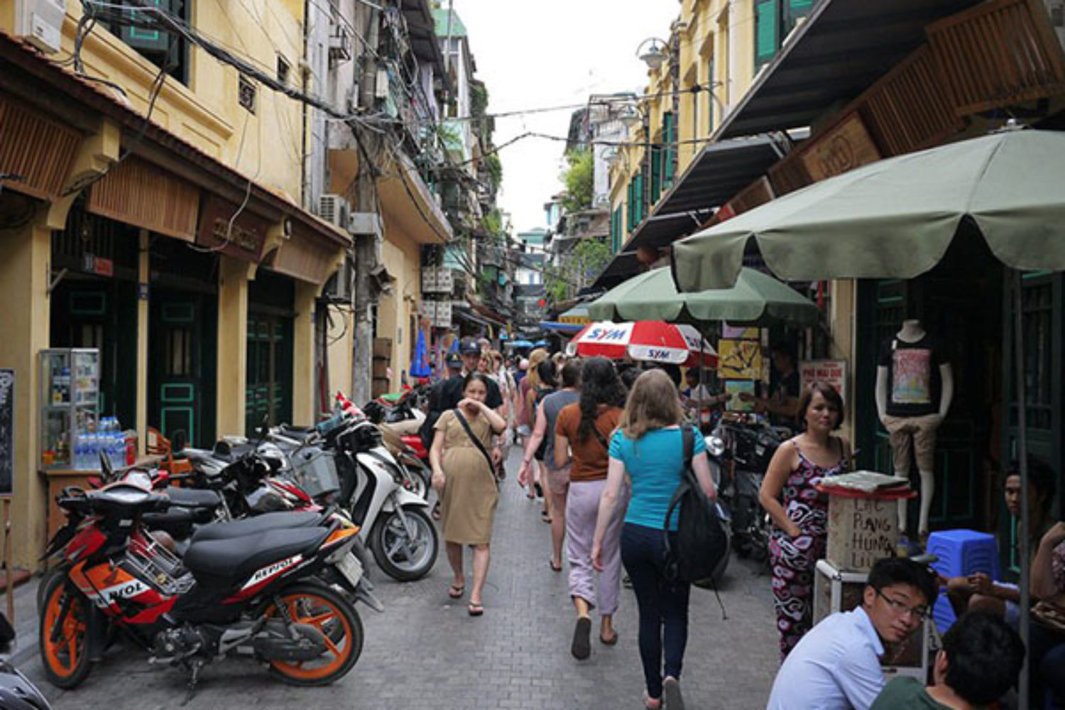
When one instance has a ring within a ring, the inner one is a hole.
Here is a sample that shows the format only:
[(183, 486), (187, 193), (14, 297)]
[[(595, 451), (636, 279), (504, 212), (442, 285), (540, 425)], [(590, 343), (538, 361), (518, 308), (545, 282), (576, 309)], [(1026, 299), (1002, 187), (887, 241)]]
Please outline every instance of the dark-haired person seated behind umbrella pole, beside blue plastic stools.
[[(1023, 528), (1020, 524), (1020, 473), (1016, 465), (1005, 476), (1002, 494), (1005, 498), (1005, 509), (1017, 526), (1017, 548), (1015, 559), (1020, 559), (1020, 540)], [(1050, 505), (1054, 499), (1054, 476), (1049, 464), (1029, 457), (1028, 459), (1028, 499), (1031, 505), (1031, 534), (1029, 549), (1031, 556), (1039, 547), (1039, 540), (1053, 522), (1050, 517)], [(1002, 548), (1000, 542), (999, 548)], [(961, 616), (966, 611), (989, 611), (999, 618), (1004, 618), (1013, 628), (1019, 626), (1020, 590), (1016, 584), (993, 580), (987, 574), (978, 572), (967, 577), (952, 577), (947, 580), (947, 598), (954, 609), (954, 614)], [(1033, 604), (1036, 599), (1032, 600)]]

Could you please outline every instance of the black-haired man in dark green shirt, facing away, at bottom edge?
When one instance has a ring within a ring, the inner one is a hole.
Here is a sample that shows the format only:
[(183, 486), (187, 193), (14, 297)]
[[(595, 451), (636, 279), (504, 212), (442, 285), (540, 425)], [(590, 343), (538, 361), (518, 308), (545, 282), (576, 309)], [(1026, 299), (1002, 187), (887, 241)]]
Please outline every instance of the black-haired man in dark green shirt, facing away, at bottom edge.
[(869, 710), (976, 710), (1017, 683), (1025, 644), (996, 614), (970, 611), (950, 627), (932, 666), (933, 684), (894, 678)]

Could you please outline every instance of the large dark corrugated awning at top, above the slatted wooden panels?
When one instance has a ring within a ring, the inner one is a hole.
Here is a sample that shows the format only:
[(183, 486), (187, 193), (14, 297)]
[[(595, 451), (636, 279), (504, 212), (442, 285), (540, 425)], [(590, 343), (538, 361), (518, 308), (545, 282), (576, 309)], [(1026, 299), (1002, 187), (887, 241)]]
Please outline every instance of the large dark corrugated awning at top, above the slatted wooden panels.
[(981, 0), (820, 0), (714, 137), (810, 126), (924, 42), (924, 28)]

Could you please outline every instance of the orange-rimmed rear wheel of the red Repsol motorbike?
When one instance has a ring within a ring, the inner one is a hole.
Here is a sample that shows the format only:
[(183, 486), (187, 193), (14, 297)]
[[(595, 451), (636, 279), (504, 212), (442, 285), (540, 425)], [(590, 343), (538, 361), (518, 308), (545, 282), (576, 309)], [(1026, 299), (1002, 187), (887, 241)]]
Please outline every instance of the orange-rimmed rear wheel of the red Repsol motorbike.
[[(362, 655), (362, 620), (351, 602), (323, 584), (293, 584), (279, 594), (296, 624), (314, 626), (326, 639), (327, 651), (313, 661), (271, 661), (269, 673), (290, 686), (328, 686), (343, 678)], [(273, 604), (265, 615), (276, 616)]]

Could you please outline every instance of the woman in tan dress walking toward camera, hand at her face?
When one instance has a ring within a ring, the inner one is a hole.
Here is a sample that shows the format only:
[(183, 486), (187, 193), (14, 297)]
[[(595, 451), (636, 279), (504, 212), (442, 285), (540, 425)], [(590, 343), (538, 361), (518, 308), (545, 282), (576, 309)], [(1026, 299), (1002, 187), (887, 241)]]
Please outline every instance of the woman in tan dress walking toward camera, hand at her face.
[[(507, 423), (485, 404), (488, 376), (471, 371), (462, 381), (462, 401), (444, 412), (433, 429), (429, 463), (432, 486), (443, 500), (442, 518), (447, 561), (455, 575), (447, 595), (462, 597), (465, 575), (462, 572), (462, 546), (473, 548), (473, 590), (470, 592), (471, 616), (485, 613), (481, 591), (488, 577), (489, 543), (492, 519), (499, 491), (486, 452), (492, 450), (492, 435), (502, 433)], [(459, 418), (461, 417), (461, 419)], [(466, 427), (469, 427), (469, 433)], [(471, 437), (476, 437), (480, 448)], [(482, 450), (484, 449), (484, 452)]]

